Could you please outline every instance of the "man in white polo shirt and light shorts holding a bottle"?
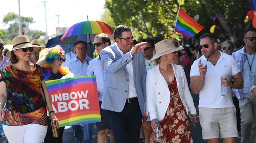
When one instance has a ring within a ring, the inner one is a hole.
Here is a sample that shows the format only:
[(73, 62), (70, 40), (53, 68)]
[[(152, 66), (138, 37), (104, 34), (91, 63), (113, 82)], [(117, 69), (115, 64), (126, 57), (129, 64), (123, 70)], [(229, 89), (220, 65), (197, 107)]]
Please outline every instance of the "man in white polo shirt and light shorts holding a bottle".
[[(219, 138), (223, 138), (223, 142), (236, 142), (238, 132), (231, 87), (243, 86), (238, 64), (232, 56), (218, 51), (217, 38), (212, 33), (200, 36), (199, 48), (203, 55), (191, 67), (190, 87), (194, 93), (199, 93), (203, 139), (219, 142)], [(221, 83), (227, 87), (226, 96), (221, 96)]]

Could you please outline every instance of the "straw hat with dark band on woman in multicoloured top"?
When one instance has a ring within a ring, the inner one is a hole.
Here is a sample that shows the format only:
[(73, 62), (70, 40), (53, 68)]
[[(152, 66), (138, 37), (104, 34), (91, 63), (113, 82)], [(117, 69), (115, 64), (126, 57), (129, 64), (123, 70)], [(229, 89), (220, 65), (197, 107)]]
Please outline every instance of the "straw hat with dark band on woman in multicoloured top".
[(39, 46), (30, 44), (29, 38), (25, 35), (17, 36), (12, 39), (13, 48), (7, 52), (6, 56), (11, 58), (11, 52), (13, 50), (22, 49), (22, 48), (29, 48), (34, 47), (34, 50), (38, 50)]

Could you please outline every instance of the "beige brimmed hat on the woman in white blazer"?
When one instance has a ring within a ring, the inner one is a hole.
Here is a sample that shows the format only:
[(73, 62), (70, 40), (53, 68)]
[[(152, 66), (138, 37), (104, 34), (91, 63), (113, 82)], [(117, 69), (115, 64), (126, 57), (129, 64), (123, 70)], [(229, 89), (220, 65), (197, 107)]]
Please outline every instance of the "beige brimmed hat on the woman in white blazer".
[(155, 44), (156, 54), (150, 59), (155, 60), (159, 58), (160, 56), (163, 56), (165, 54), (179, 51), (184, 49), (183, 47), (175, 47), (174, 41), (172, 39), (164, 39), (158, 43)]

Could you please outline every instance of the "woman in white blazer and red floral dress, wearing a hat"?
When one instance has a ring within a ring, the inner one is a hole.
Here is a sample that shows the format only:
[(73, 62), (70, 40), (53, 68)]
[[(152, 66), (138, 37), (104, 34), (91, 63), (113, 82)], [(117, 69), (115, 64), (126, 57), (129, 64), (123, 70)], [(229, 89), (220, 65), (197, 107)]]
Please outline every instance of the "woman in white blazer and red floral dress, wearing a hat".
[(154, 142), (156, 121), (161, 125), (161, 142), (192, 142), (188, 113), (196, 122), (196, 109), (191, 97), (185, 72), (176, 61), (176, 48), (172, 39), (155, 44), (155, 66), (146, 79), (147, 107), (151, 118), (150, 142)]

